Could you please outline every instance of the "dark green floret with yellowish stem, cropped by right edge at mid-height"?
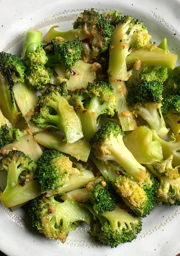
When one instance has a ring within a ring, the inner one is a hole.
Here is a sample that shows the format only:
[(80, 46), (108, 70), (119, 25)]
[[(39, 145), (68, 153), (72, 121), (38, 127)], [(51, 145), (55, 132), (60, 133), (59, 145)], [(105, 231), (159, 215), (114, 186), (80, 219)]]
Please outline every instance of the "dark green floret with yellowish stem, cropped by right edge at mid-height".
[(161, 106), (161, 111), (165, 117), (165, 122), (173, 130), (175, 135), (180, 132), (180, 96), (179, 95), (167, 95)]

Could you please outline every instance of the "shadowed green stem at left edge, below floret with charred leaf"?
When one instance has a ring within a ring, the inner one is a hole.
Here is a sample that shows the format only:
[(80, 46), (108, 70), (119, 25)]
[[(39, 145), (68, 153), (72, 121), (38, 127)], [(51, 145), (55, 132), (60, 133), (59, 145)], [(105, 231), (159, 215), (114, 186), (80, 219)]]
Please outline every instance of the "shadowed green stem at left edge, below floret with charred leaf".
[(11, 91), (10, 94), (7, 77), (2, 75), (0, 75), (0, 95), (0, 108), (2, 113), (12, 125), (15, 125), (19, 121), (19, 111), (14, 100), (13, 92)]

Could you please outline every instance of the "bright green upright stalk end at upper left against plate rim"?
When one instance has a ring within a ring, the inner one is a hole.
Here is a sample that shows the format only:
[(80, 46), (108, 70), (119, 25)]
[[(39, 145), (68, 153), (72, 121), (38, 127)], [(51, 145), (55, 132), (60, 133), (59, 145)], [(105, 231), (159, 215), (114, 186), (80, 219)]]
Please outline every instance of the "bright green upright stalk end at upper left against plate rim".
[(23, 44), (23, 51), (21, 52), (21, 59), (24, 59), (27, 53), (34, 52), (38, 46), (41, 46), (41, 37), (41, 31), (28, 29), (25, 42)]

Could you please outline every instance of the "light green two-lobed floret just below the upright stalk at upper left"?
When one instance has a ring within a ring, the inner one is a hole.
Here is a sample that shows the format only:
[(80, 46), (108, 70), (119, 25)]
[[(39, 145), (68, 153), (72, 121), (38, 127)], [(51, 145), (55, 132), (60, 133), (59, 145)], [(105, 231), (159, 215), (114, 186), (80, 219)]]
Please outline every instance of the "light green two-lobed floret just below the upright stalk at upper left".
[(26, 53), (25, 63), (28, 66), (26, 73), (26, 83), (30, 89), (42, 90), (47, 83), (50, 83), (52, 69), (45, 68), (47, 62), (46, 53), (38, 46), (34, 52)]

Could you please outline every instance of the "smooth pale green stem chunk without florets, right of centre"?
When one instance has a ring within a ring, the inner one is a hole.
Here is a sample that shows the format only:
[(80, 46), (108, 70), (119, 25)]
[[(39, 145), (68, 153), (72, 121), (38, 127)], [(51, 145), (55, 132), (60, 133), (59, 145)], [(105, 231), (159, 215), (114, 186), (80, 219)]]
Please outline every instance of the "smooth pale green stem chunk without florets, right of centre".
[(140, 126), (123, 137), (125, 146), (140, 164), (152, 164), (163, 159), (161, 144), (152, 136), (152, 131)]

